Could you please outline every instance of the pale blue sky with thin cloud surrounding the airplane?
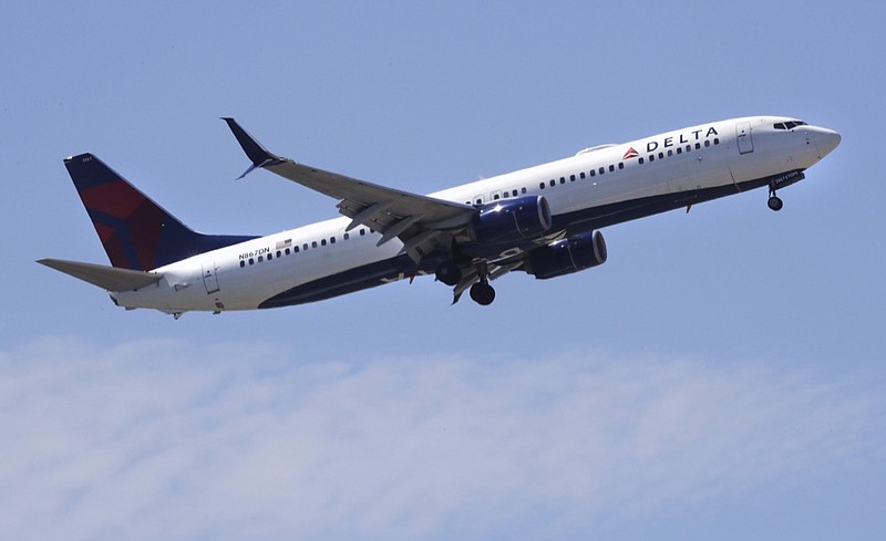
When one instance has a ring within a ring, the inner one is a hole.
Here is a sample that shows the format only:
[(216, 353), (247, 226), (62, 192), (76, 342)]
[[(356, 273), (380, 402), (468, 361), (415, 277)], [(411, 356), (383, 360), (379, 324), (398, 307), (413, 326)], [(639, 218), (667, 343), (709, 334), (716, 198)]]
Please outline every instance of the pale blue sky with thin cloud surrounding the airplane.
[[(0, 528), (16, 539), (883, 539), (886, 9), (855, 2), (7, 2)], [(707, 121), (843, 143), (609, 228), (609, 261), (450, 306), (430, 279), (253, 313), (124, 312), (92, 152), (195, 229), (334, 201), (272, 152), (430, 193)]]

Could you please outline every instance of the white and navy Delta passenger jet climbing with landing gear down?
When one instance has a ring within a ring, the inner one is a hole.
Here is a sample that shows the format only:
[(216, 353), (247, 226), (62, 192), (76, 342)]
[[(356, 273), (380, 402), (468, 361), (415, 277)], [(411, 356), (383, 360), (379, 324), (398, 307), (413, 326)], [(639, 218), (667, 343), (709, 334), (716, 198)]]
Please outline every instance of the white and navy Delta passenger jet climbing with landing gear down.
[(430, 274), (477, 304), (512, 271), (552, 279), (602, 264), (602, 228), (805, 178), (837, 132), (784, 116), (711, 122), (418, 195), (296, 163), (223, 118), (251, 162), (337, 200), (343, 217), (265, 237), (196, 232), (92, 154), (64, 159), (111, 267), (38, 262), (126, 310), (269, 309)]

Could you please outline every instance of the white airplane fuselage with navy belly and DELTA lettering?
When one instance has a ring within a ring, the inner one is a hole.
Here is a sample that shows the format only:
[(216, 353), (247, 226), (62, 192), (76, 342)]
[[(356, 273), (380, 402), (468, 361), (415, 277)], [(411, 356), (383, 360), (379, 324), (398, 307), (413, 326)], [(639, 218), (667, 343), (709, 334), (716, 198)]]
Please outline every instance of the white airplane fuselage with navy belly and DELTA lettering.
[[(553, 226), (542, 237), (558, 239), (748, 189), (769, 186), (774, 194), (838, 143), (836, 132), (786, 117), (733, 118), (590, 148), (429, 197), (481, 206), (543, 196)], [(401, 253), (399, 239), (377, 246), (380, 232), (363, 225), (346, 230), (349, 225), (341, 217), (199, 253), (155, 269), (163, 278), (154, 284), (111, 295), (126, 309), (220, 312), (311, 302), (433, 273), (431, 263)], [(491, 260), (525, 249), (466, 247)]]

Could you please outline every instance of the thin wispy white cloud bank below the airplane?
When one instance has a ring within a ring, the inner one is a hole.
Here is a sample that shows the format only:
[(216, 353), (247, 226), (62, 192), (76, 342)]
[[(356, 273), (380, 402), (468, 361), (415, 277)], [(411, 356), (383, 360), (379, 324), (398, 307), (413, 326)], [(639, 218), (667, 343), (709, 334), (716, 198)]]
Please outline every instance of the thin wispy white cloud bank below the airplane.
[[(318, 363), (284, 346), (0, 352), (14, 539), (593, 531), (864, 454), (883, 402), (761, 363)], [(882, 444), (882, 441), (880, 441)]]

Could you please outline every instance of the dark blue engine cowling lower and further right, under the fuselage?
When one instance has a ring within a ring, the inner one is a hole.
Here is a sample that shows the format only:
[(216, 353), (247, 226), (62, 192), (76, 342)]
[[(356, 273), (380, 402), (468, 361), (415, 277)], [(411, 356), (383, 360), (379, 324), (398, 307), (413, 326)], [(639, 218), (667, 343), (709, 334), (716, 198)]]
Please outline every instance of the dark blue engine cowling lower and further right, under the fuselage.
[(589, 231), (536, 248), (526, 258), (526, 272), (539, 280), (578, 272), (606, 262), (606, 241)]

